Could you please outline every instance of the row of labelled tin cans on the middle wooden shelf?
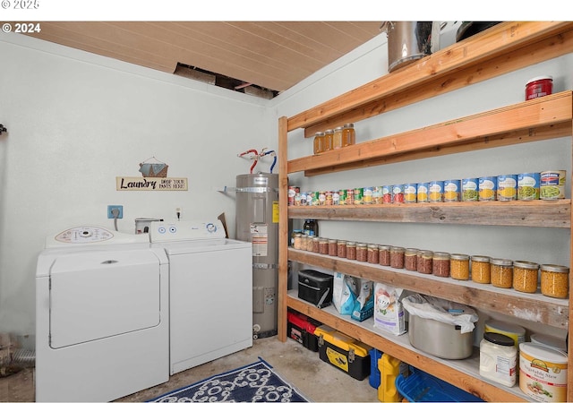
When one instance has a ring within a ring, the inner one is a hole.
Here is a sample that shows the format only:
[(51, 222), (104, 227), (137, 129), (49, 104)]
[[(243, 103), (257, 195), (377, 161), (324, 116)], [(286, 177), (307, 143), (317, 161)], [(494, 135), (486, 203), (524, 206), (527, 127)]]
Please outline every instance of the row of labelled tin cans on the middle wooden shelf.
[(307, 193), (289, 186), (288, 205), (559, 200), (565, 198), (565, 184), (566, 171), (558, 170)]

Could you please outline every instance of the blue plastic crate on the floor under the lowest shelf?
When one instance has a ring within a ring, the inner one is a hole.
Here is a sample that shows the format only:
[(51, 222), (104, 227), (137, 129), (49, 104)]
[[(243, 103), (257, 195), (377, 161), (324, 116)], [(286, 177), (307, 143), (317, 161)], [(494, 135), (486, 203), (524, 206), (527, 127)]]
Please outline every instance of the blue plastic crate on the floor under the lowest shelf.
[(401, 374), (396, 378), (396, 388), (411, 402), (418, 401), (483, 401), (448, 382), (441, 381), (429, 373), (410, 368), (407, 378)]

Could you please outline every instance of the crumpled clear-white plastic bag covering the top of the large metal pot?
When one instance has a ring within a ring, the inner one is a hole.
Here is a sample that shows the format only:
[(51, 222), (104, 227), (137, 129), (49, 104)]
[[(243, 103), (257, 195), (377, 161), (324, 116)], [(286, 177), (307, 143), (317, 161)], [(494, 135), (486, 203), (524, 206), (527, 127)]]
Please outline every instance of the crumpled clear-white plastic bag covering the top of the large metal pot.
[(473, 308), (434, 296), (414, 294), (406, 296), (402, 300), (402, 304), (411, 315), (458, 325), (461, 328), (461, 333), (474, 330), (474, 323), (479, 319)]

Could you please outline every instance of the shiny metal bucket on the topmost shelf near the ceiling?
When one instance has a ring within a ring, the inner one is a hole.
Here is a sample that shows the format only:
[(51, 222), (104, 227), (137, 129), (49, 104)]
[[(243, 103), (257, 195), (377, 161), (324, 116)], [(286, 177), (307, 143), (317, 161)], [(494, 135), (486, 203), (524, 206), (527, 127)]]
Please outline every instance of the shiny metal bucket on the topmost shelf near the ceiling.
[[(432, 54), (432, 21), (386, 21), (381, 29), (388, 35), (388, 71)], [(436, 24), (440, 38), (440, 25)], [(435, 27), (434, 27), (435, 32)]]

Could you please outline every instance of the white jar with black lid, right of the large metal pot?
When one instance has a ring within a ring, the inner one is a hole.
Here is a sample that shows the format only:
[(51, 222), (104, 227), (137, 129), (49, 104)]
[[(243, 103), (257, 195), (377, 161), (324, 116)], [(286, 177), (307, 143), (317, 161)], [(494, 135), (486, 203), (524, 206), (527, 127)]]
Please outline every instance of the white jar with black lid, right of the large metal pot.
[(483, 333), (480, 375), (509, 388), (516, 384), (517, 347), (513, 339), (501, 333)]

